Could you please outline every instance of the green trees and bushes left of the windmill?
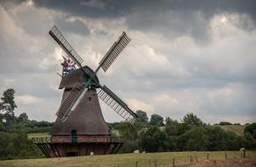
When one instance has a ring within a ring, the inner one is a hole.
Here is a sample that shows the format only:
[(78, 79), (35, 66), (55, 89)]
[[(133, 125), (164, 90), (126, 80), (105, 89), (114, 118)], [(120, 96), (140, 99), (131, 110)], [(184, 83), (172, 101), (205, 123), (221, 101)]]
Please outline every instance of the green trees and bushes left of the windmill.
[(8, 89), (0, 99), (0, 159), (43, 157), (27, 134), (48, 133), (53, 123), (28, 120), (26, 113), (16, 116), (14, 94)]

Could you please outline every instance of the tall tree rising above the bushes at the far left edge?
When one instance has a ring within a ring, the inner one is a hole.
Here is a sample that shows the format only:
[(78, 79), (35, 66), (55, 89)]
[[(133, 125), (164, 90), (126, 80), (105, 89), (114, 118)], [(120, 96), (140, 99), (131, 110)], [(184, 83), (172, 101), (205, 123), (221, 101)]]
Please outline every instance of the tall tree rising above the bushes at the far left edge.
[(0, 102), (0, 111), (4, 113), (4, 120), (7, 125), (10, 125), (11, 122), (15, 121), (14, 109), (17, 108), (17, 105), (14, 101), (14, 93), (13, 89), (8, 89), (4, 91), (3, 97)]

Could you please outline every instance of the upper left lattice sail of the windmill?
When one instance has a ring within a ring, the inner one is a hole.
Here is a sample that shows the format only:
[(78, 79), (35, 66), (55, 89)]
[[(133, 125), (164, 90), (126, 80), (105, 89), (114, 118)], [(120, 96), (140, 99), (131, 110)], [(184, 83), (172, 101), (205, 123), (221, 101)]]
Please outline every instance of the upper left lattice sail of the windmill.
[(55, 41), (62, 47), (62, 49), (69, 55), (73, 62), (76, 62), (78, 67), (82, 67), (82, 62), (84, 60), (77, 54), (76, 50), (71, 47), (68, 40), (64, 38), (62, 33), (58, 30), (56, 26), (54, 26), (50, 31), (49, 34), (55, 39)]

